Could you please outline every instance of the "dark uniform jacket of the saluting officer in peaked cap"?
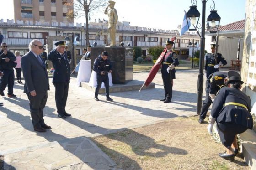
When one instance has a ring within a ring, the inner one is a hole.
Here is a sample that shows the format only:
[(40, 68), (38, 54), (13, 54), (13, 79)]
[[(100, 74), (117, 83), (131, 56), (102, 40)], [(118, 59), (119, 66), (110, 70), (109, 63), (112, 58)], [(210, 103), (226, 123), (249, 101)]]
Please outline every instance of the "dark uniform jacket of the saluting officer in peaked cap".
[[(64, 57), (66, 59), (64, 59)], [(53, 73), (53, 83), (69, 83), (70, 82), (70, 67), (69, 60), (64, 54), (61, 56), (56, 49), (49, 52), (47, 59), (53, 62), (54, 73)]]

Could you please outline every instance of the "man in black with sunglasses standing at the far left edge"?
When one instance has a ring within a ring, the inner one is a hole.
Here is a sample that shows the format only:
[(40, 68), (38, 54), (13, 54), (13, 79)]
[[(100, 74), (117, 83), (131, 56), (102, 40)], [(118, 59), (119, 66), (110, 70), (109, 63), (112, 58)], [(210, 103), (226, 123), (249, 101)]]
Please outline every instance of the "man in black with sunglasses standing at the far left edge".
[(13, 68), (16, 67), (16, 57), (12, 52), (7, 50), (7, 44), (5, 42), (1, 43), (0, 51), (0, 69), (4, 75), (1, 77), (0, 82), (0, 95), (5, 96), (4, 90), (8, 84), (8, 97), (13, 98), (16, 95), (13, 94), (14, 85), (14, 71)]

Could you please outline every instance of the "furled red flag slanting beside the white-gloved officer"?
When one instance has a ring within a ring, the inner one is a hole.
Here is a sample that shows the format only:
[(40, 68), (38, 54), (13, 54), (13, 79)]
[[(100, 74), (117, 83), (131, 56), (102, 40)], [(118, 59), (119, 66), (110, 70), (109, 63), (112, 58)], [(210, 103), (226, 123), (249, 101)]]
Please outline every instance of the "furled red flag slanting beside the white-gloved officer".
[(165, 52), (166, 51), (167, 51), (167, 49), (165, 47), (164, 51), (158, 57), (158, 59), (155, 62), (154, 66), (151, 68), (151, 71), (149, 72), (149, 76), (146, 79), (144, 85), (148, 86), (152, 82), (152, 80), (155, 78), (156, 73), (158, 72), (159, 68), (161, 67), (161, 62), (163, 61), (163, 58), (165, 56)]

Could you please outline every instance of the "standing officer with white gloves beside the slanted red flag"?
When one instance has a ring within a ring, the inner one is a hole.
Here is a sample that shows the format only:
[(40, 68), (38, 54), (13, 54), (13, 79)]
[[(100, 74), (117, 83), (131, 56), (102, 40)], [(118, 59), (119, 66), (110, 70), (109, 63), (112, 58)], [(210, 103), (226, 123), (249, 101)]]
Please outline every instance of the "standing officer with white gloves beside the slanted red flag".
[(166, 41), (165, 45), (167, 51), (165, 53), (162, 65), (161, 65), (161, 73), (162, 79), (164, 82), (165, 88), (165, 98), (161, 99), (160, 101), (164, 103), (170, 103), (172, 98), (172, 77), (175, 77), (175, 66), (179, 65), (178, 58), (175, 52), (171, 51), (173, 46), (173, 41)]

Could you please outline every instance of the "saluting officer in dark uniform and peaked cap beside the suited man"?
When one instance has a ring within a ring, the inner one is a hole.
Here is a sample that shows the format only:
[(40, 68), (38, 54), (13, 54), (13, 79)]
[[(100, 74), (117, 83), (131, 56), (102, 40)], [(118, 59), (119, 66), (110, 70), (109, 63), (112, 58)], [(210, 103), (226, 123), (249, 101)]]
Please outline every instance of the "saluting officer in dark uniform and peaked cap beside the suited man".
[(55, 87), (55, 102), (59, 118), (71, 116), (65, 110), (69, 93), (70, 68), (69, 60), (64, 54), (66, 41), (59, 41), (54, 44), (56, 46), (49, 55), (48, 60), (53, 62), (55, 69), (53, 73), (53, 84)]

